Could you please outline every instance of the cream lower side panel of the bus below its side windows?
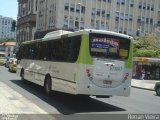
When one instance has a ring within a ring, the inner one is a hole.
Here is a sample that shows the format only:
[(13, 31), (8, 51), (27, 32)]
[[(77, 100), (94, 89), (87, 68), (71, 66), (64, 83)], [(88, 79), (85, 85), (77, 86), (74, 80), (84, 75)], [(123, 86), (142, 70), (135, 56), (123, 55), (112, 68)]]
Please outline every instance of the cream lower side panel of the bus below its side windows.
[(22, 66), (26, 80), (44, 86), (45, 76), (49, 74), (52, 79), (52, 90), (76, 94), (75, 81), (78, 72), (76, 64), (23, 59), (17, 68), (19, 75)]

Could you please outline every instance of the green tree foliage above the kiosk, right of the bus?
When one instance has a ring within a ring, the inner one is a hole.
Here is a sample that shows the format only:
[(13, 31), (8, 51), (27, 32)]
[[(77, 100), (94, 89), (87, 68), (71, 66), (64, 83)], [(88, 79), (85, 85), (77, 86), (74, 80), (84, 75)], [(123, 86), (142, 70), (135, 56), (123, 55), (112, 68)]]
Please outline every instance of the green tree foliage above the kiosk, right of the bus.
[(147, 34), (143, 37), (135, 38), (134, 56), (160, 58), (160, 36)]

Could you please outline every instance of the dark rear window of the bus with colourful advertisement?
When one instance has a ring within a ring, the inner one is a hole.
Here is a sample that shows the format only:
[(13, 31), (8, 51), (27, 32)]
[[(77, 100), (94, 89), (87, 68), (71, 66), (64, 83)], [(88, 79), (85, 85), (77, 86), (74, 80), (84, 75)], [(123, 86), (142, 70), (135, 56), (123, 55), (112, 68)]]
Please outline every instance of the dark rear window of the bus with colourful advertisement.
[(126, 60), (129, 48), (130, 40), (127, 38), (90, 33), (90, 54), (93, 57)]

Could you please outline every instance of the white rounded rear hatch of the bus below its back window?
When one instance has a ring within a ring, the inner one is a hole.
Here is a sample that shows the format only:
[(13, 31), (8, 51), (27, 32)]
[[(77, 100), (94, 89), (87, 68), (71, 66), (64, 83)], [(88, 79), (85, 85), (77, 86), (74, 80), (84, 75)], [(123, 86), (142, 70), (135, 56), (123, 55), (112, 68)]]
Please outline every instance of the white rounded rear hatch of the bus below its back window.
[(93, 83), (100, 87), (117, 87), (122, 83), (124, 62), (94, 59)]

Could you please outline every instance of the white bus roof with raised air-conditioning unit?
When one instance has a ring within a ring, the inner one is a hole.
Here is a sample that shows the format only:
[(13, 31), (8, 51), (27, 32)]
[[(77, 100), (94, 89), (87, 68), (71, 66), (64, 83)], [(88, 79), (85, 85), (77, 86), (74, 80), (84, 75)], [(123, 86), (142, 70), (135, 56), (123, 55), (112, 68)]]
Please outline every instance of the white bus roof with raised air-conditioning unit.
[(109, 35), (115, 35), (115, 36), (124, 37), (124, 38), (128, 38), (128, 39), (133, 39), (133, 37), (128, 36), (128, 35), (113, 32), (113, 31), (106, 31), (106, 30), (83, 29), (83, 30), (75, 31), (75, 32), (65, 31), (65, 30), (57, 30), (57, 31), (47, 33), (41, 39), (25, 41), (22, 44), (35, 43), (35, 42), (40, 42), (40, 41), (48, 41), (51, 38), (52, 38), (52, 40), (54, 40), (54, 39), (59, 39), (59, 38), (62, 38), (62, 37), (72, 37), (72, 36), (89, 34), (89, 33), (109, 34)]

